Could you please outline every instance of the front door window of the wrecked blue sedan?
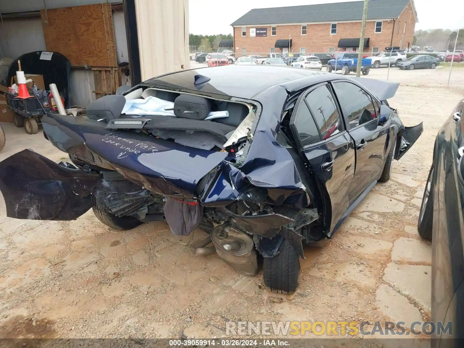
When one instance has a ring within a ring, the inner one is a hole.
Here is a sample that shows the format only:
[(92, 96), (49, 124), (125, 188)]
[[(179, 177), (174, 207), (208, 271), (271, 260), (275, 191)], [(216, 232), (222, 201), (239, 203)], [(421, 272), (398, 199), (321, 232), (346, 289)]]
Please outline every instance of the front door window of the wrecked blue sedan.
[(376, 118), (374, 104), (365, 90), (349, 82), (335, 82), (334, 90), (351, 128)]

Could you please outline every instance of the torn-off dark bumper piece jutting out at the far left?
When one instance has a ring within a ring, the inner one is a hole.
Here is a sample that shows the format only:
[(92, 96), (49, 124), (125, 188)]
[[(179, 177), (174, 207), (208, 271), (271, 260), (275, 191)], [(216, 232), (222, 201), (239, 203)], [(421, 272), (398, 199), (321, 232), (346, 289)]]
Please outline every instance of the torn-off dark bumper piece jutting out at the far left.
[(93, 206), (91, 193), (99, 179), (28, 149), (0, 162), (0, 191), (9, 218), (77, 219)]

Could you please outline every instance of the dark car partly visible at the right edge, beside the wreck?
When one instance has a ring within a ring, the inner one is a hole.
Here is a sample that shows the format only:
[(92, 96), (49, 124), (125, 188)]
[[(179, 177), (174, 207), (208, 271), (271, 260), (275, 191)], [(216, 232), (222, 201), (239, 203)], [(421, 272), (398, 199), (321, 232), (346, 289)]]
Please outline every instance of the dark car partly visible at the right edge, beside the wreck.
[[(435, 138), (418, 231), (432, 240), (434, 323), (452, 322), (452, 335), (432, 337), (432, 347), (462, 347), (464, 339), (464, 99)], [(443, 338), (445, 336), (445, 338)], [(451, 340), (460, 339), (460, 340)]]

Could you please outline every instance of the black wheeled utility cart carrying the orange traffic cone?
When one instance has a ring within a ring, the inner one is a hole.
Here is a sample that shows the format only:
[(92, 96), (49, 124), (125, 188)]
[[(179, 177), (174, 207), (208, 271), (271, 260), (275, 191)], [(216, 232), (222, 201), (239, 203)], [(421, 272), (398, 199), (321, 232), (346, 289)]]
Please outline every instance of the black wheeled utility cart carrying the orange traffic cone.
[(19, 98), (16, 94), (6, 92), (6, 105), (14, 111), (14, 125), (24, 127), (27, 134), (36, 134), (39, 131), (40, 119), (51, 109), (45, 108), (48, 104), (44, 97), (38, 97), (32, 89), (28, 88), (30, 98)]

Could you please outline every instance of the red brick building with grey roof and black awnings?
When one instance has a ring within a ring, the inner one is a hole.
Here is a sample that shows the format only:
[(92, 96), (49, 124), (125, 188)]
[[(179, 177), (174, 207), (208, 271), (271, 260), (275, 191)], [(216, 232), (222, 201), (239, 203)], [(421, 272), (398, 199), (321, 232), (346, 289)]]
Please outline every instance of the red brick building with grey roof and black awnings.
[[(356, 51), (363, 4), (352, 1), (253, 9), (231, 24), (234, 51), (236, 55)], [(370, 0), (364, 51), (411, 47), (417, 22), (413, 0)]]

